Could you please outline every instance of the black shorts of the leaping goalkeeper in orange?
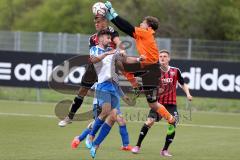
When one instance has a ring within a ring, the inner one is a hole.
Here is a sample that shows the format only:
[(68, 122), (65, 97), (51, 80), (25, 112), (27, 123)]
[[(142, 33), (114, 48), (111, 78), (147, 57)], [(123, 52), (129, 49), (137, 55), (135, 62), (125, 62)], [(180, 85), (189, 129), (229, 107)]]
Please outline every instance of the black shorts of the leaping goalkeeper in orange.
[(147, 65), (144, 68), (141, 67), (140, 63), (126, 64), (123, 63), (124, 70), (126, 72), (142, 72), (142, 83), (144, 94), (149, 103), (156, 102), (158, 100), (158, 88), (159, 79), (161, 78), (160, 64)]

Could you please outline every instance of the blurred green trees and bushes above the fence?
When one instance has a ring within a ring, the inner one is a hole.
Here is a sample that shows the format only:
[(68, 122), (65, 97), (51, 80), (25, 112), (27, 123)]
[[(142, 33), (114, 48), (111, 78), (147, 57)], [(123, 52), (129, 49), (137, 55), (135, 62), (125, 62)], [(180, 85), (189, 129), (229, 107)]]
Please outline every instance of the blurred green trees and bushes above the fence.
[[(97, 0), (2, 0), (0, 29), (92, 33)], [(117, 12), (138, 25), (147, 15), (160, 20), (158, 36), (218, 40), (240, 39), (238, 0), (121, 0)]]

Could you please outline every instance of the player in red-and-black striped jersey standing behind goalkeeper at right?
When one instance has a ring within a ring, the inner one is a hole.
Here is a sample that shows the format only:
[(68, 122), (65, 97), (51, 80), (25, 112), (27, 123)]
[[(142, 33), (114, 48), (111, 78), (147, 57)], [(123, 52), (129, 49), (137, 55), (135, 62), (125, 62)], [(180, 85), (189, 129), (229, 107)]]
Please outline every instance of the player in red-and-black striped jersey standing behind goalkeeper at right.
[[(178, 68), (169, 66), (170, 56), (167, 50), (161, 50), (159, 53), (159, 62), (161, 64), (161, 78), (159, 80), (160, 88), (159, 88), (159, 98), (158, 102), (163, 104), (169, 113), (171, 113), (177, 119), (178, 111), (176, 105), (176, 87), (179, 84), (183, 91), (186, 93), (187, 99), (189, 101), (192, 100), (192, 96), (189, 92), (188, 86), (184, 83), (184, 79), (181, 75), (181, 72)], [(148, 130), (153, 126), (154, 122), (158, 122), (162, 119), (161, 116), (154, 110), (150, 110), (148, 114), (148, 119), (144, 123), (140, 135), (138, 138), (137, 145), (132, 149), (133, 153), (138, 153), (140, 151), (140, 147), (142, 144), (143, 139), (145, 138)], [(175, 137), (175, 124), (169, 124), (167, 130), (166, 141), (163, 149), (161, 150), (160, 154), (162, 156), (172, 156), (168, 152), (168, 147), (172, 143)]]

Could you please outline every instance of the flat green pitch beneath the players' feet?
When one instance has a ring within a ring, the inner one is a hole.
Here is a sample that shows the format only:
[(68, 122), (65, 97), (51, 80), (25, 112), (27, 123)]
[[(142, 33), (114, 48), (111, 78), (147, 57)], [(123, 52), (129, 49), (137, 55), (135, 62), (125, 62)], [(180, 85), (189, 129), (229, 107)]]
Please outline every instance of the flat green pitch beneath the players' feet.
[[(54, 116), (55, 103), (0, 101), (0, 160), (88, 160), (88, 149), (70, 148), (71, 140), (88, 124), (74, 122), (60, 128)], [(88, 109), (83, 106), (83, 111)], [(137, 141), (147, 108), (123, 107), (129, 120), (131, 144)], [(188, 111), (180, 113), (188, 114)], [(142, 117), (138, 117), (140, 113)], [(239, 160), (240, 114), (193, 111), (192, 120), (182, 117), (170, 147), (172, 160)], [(167, 159), (159, 155), (166, 123), (157, 123), (143, 142), (141, 153), (120, 151), (121, 140), (115, 125), (98, 150), (96, 160)]]

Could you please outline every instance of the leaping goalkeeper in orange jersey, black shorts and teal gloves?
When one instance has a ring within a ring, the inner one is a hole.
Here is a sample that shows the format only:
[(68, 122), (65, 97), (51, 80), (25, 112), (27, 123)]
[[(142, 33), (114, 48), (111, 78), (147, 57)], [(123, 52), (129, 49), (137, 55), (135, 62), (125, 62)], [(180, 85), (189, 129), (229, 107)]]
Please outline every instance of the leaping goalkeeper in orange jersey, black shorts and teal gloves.
[(105, 6), (108, 8), (107, 19), (136, 41), (140, 57), (135, 58), (136, 63), (134, 64), (128, 64), (128, 57), (126, 57), (126, 60), (123, 61), (124, 70), (126, 72), (146, 71), (142, 76), (142, 82), (149, 107), (169, 123), (174, 123), (175, 118), (157, 101), (161, 72), (154, 33), (158, 29), (158, 19), (148, 16), (144, 18), (139, 27), (134, 27), (116, 13), (109, 1), (105, 3)]

